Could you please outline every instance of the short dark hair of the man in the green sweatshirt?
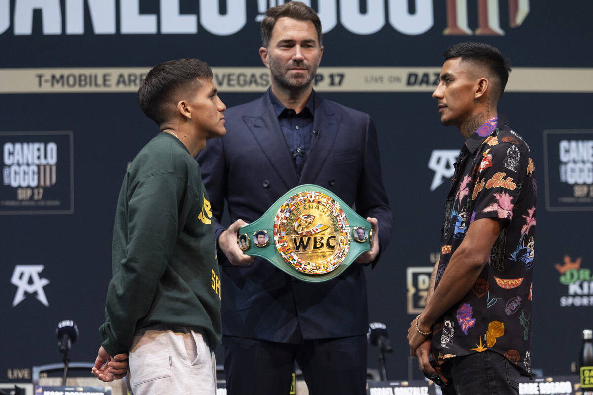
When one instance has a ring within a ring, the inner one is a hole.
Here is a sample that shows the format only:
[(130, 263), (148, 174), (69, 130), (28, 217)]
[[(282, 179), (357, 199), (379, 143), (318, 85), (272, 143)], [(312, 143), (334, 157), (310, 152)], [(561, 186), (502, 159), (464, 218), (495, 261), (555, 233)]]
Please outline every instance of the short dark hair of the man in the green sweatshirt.
[(206, 62), (199, 59), (169, 60), (154, 66), (138, 89), (138, 103), (144, 114), (157, 125), (168, 120), (167, 105), (182, 89), (196, 89), (200, 79), (213, 77)]

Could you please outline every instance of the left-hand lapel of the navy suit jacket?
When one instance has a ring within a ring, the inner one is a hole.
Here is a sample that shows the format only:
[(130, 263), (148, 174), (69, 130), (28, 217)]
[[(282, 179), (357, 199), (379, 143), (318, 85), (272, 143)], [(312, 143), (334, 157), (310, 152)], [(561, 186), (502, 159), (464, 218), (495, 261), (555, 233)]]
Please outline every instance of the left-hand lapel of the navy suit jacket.
[(298, 184), (297, 172), (292, 165), (278, 117), (267, 93), (260, 99), (254, 114), (243, 115), (243, 120), (286, 189), (295, 187)]

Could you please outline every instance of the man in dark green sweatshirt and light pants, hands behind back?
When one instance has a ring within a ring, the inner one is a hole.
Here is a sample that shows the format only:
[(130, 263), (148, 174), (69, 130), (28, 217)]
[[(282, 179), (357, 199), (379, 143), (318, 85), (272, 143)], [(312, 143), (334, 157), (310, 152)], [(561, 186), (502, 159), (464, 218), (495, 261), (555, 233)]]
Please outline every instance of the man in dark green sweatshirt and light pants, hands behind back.
[[(226, 133), (212, 71), (197, 59), (155, 66), (138, 91), (158, 133), (123, 179), (113, 229), (103, 344), (94, 374), (138, 394), (214, 394), (221, 339), (212, 211), (194, 157)], [(123, 356), (120, 354), (124, 354)]]

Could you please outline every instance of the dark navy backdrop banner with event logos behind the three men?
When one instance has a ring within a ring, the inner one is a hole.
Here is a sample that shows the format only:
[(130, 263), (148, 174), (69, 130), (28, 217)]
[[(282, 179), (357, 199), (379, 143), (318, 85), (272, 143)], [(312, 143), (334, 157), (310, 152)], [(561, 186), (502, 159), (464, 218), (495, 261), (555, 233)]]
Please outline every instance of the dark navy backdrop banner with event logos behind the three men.
[[(71, 360), (96, 357), (117, 193), (158, 131), (137, 104), (146, 72), (199, 57), (227, 107), (259, 97), (270, 84), (259, 25), (278, 2), (0, 0), (1, 383), (31, 382), (32, 366), (61, 361), (62, 320), (79, 328)], [(377, 126), (396, 226), (368, 270), (368, 301), (370, 320), (385, 323), (394, 344), (388, 378), (421, 377), (406, 332), (425, 306), (463, 144), (441, 126), (432, 91), (442, 53), (462, 41), (493, 44), (514, 65), (498, 110), (530, 144), (537, 173), (532, 367), (572, 374), (593, 311), (593, 2), (305, 3), (324, 33), (315, 89)], [(378, 368), (373, 346), (368, 362)]]

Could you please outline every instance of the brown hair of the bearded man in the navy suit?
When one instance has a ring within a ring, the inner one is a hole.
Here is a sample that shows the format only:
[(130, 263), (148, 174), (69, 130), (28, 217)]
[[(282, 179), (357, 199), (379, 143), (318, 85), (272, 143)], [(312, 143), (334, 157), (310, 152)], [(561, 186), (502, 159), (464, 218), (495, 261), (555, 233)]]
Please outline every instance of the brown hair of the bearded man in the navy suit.
[(308, 5), (300, 1), (291, 1), (282, 5), (276, 5), (276, 7), (269, 8), (266, 11), (266, 16), (262, 20), (262, 45), (264, 47), (267, 48), (270, 45), (274, 25), (276, 25), (276, 21), (283, 17), (292, 18), (297, 21), (313, 22), (315, 30), (317, 30), (319, 46), (321, 46), (323, 34), (321, 34), (321, 21), (319, 17), (313, 11), (313, 8)]

